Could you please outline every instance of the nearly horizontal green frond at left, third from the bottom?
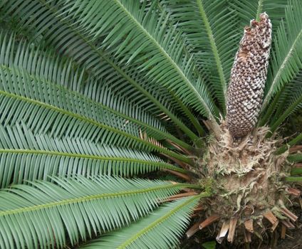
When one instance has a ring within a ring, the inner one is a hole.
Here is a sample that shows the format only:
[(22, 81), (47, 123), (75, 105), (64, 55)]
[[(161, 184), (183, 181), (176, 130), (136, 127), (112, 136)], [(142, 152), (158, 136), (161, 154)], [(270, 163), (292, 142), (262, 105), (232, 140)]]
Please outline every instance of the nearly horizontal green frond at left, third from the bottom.
[(49, 176), (130, 176), (158, 169), (185, 172), (152, 154), (95, 144), (87, 139), (33, 134), (25, 124), (0, 125), (0, 186)]

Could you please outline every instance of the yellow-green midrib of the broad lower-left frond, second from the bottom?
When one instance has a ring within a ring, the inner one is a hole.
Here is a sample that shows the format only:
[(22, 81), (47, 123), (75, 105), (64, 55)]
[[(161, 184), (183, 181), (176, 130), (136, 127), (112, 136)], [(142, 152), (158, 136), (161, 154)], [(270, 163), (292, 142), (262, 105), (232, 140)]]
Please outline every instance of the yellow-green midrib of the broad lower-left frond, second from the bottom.
[[(107, 193), (107, 194), (95, 194), (91, 196), (82, 196), (78, 198), (69, 198), (63, 201), (53, 201), (50, 203), (44, 203), (36, 206), (27, 206), (25, 208), (16, 208), (13, 210), (7, 210), (7, 211), (0, 211), (0, 216), (10, 216), (10, 215), (15, 215), (16, 213), (26, 213), (30, 211), (36, 211), (40, 209), (47, 209), (47, 208), (53, 208), (54, 206), (63, 206), (63, 205), (70, 205), (73, 203), (79, 203), (79, 202), (86, 202), (86, 201), (91, 201), (94, 199), (99, 199), (99, 198), (118, 198), (121, 196), (131, 196), (135, 194), (144, 194), (147, 192), (152, 192), (152, 191), (157, 191), (160, 189), (173, 189), (173, 188), (197, 188), (197, 186), (192, 185), (192, 184), (166, 184), (162, 186), (155, 186), (147, 189), (136, 189), (132, 191), (120, 191), (118, 193)], [(198, 186), (199, 187), (199, 186)]]

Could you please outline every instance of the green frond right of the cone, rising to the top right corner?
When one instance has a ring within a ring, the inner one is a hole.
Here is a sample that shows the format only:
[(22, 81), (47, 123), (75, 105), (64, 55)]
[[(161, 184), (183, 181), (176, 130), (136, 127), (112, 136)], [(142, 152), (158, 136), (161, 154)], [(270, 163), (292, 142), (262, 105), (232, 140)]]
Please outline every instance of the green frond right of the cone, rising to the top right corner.
[(265, 110), (272, 97), (302, 68), (302, 6), (296, 0), (288, 3), (285, 21), (281, 21), (273, 39), (262, 110)]

